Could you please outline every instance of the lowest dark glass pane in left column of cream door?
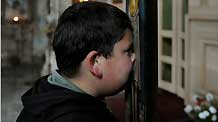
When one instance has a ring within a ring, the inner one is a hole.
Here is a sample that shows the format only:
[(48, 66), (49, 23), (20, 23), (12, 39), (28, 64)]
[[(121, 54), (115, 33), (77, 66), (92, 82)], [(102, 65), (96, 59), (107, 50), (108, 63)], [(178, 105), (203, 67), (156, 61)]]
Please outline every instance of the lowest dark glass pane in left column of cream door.
[(172, 66), (171, 64), (162, 63), (162, 80), (169, 83), (172, 82)]

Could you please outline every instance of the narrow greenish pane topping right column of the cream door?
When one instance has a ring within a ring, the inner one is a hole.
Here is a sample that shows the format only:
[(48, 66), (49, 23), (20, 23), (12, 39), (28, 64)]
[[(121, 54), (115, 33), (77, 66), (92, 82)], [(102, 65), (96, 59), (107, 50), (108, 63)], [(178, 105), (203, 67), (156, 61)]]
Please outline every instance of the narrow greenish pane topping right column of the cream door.
[(185, 32), (185, 15), (188, 14), (188, 0), (182, 0), (182, 32)]

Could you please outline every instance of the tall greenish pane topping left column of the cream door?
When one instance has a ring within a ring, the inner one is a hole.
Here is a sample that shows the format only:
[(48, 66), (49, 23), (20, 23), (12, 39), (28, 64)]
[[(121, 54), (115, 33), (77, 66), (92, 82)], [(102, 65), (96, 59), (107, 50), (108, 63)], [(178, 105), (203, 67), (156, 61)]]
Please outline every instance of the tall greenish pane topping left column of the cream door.
[(172, 30), (172, 0), (163, 0), (162, 29)]

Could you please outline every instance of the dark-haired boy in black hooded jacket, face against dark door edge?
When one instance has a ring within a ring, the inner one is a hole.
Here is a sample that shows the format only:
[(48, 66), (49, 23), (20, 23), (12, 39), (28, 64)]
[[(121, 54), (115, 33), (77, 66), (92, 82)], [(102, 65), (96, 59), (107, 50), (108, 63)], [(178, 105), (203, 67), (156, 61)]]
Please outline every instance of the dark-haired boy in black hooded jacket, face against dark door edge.
[(115, 122), (104, 97), (121, 91), (135, 60), (128, 16), (100, 2), (70, 6), (53, 48), (58, 69), (22, 96), (17, 122)]

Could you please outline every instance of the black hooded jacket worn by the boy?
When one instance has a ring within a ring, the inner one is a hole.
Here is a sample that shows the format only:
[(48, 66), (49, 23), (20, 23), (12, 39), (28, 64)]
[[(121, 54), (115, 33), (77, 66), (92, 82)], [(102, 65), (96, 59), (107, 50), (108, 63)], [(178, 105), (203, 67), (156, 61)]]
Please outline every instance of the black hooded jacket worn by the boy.
[(17, 122), (116, 122), (102, 100), (49, 84), (47, 77), (22, 96)]

